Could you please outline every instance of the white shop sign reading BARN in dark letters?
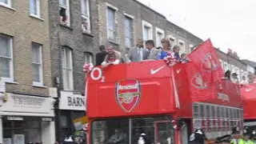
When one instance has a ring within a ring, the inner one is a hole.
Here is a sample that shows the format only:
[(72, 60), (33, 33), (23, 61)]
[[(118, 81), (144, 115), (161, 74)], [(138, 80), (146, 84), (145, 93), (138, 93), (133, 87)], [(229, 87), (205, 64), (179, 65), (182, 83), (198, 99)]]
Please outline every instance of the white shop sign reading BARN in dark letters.
[(60, 110), (86, 110), (86, 98), (81, 94), (69, 91), (61, 91), (59, 100)]

